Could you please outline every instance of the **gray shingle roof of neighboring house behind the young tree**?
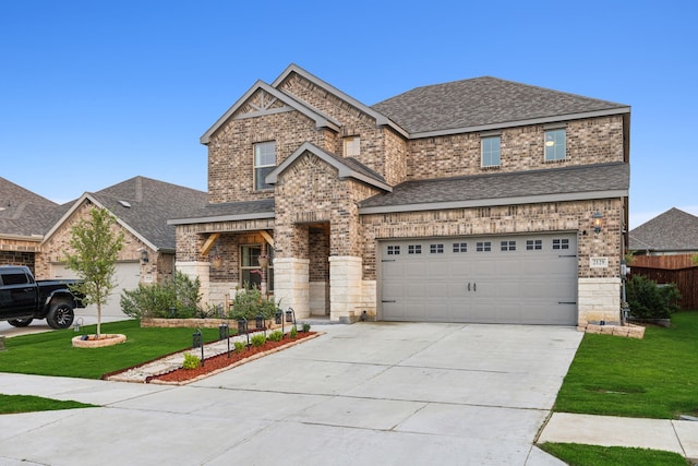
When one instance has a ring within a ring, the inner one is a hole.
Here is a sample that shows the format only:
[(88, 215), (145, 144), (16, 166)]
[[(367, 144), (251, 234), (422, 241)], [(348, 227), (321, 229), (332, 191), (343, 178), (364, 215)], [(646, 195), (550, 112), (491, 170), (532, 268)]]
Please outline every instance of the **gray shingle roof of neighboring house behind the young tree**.
[(167, 220), (201, 208), (208, 199), (203, 191), (145, 177), (131, 178), (91, 195), (154, 246), (171, 250), (176, 246), (174, 227)]

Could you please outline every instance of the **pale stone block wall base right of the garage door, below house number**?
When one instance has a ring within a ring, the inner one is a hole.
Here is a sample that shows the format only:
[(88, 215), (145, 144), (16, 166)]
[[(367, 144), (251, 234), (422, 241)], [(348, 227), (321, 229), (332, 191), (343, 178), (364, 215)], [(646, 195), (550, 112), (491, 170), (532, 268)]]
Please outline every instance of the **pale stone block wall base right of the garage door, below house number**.
[(621, 278), (579, 278), (578, 283), (579, 321), (621, 322)]

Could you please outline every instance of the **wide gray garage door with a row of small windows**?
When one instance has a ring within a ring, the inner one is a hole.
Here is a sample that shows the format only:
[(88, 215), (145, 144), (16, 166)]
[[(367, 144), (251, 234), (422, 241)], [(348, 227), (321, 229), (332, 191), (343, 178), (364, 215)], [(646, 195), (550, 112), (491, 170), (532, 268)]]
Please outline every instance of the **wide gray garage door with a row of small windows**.
[(386, 321), (577, 323), (574, 234), (382, 241)]

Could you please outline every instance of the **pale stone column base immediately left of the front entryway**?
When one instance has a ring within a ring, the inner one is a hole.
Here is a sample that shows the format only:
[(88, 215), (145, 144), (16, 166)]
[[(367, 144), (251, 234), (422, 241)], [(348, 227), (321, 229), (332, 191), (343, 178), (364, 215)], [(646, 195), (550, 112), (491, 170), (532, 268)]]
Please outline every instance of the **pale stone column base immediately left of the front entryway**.
[(274, 299), (285, 311), (293, 308), (297, 319), (310, 316), (309, 267), (308, 259), (274, 259)]

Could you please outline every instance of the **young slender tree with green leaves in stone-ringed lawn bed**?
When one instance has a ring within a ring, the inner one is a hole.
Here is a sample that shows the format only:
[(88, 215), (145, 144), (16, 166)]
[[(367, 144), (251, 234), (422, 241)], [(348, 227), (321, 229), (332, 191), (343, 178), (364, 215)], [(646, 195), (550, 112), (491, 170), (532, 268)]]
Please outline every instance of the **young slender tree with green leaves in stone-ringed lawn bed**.
[(123, 231), (113, 226), (116, 218), (105, 208), (93, 208), (89, 217), (71, 228), (67, 267), (75, 271), (81, 282), (73, 288), (82, 292), (85, 304), (97, 304), (97, 339), (101, 334), (101, 304), (117, 286), (116, 262), (123, 248)]

